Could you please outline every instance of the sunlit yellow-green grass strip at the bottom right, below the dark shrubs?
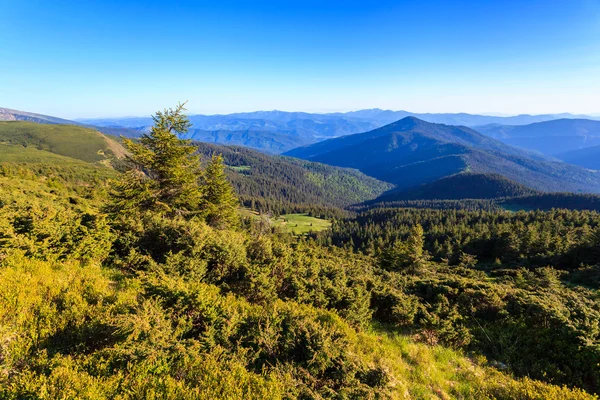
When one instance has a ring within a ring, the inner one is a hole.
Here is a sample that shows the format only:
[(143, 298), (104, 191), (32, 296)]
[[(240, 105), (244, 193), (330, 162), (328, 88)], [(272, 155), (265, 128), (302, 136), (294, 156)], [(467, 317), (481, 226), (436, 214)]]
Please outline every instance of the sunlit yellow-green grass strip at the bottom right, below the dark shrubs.
[(484, 357), (427, 345), (380, 329), (361, 332), (351, 346), (369, 365), (386, 371), (397, 399), (597, 399), (579, 389), (514, 378)]

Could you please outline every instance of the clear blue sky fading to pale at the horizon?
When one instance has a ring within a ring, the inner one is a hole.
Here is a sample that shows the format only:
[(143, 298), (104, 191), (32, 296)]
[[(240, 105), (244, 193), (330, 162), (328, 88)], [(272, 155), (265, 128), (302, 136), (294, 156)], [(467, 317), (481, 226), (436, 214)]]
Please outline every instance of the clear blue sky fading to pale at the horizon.
[(0, 0), (0, 107), (600, 113), (600, 0)]

